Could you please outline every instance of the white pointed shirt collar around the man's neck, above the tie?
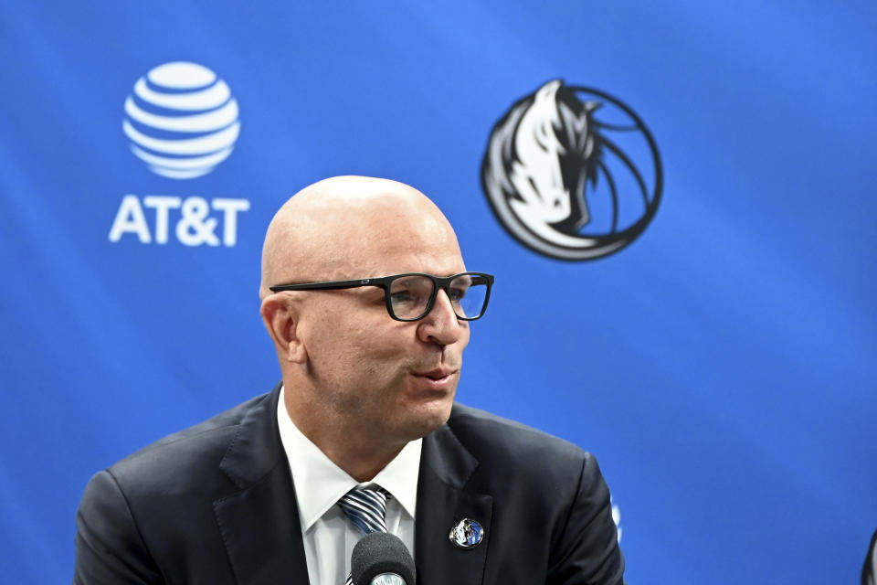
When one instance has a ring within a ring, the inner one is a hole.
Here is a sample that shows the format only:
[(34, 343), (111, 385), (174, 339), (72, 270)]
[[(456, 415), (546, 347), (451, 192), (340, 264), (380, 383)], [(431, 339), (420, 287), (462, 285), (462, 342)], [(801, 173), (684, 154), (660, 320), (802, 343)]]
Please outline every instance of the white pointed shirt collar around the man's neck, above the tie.
[(415, 517), (422, 439), (410, 441), (393, 461), (387, 463), (386, 467), (375, 475), (375, 479), (359, 484), (326, 457), (326, 454), (295, 426), (286, 411), (283, 400), (285, 391), (286, 388), (280, 388), (277, 424), (280, 430), (280, 442), (290, 462), (302, 533), (310, 529), (342, 495), (356, 486), (380, 485), (393, 495), (409, 516)]

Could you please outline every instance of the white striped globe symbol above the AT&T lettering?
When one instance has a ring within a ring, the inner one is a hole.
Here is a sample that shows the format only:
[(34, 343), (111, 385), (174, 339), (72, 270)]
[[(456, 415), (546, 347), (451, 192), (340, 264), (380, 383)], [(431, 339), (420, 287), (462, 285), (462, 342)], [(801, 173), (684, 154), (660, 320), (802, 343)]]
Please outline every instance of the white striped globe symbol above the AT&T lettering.
[(234, 150), (238, 101), (203, 65), (164, 63), (134, 84), (122, 130), (132, 153), (153, 173), (192, 179), (211, 172)]

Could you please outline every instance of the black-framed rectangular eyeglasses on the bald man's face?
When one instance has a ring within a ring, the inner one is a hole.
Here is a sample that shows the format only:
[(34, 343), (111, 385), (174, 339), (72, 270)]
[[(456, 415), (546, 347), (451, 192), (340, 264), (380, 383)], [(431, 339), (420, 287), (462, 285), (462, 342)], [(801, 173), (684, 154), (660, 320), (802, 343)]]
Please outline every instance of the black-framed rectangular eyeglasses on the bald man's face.
[(326, 291), (353, 289), (360, 286), (377, 286), (384, 289), (386, 312), (396, 321), (417, 321), (432, 310), (439, 295), (444, 291), (454, 308), (454, 314), (463, 321), (474, 321), (484, 314), (491, 298), (493, 276), (483, 272), (460, 272), (453, 276), (433, 276), (420, 272), (407, 272), (380, 278), (364, 278), (355, 281), (304, 282), (280, 284), (270, 287), (272, 293), (281, 291)]

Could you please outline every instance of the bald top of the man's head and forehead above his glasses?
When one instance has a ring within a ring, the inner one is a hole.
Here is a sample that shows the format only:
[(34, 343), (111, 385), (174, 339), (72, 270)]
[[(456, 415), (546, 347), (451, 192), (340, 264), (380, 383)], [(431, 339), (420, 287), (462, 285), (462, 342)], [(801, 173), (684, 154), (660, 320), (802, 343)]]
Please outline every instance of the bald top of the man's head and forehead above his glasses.
[(457, 237), (431, 200), (395, 181), (334, 177), (302, 189), (271, 221), (263, 281), (463, 271)]

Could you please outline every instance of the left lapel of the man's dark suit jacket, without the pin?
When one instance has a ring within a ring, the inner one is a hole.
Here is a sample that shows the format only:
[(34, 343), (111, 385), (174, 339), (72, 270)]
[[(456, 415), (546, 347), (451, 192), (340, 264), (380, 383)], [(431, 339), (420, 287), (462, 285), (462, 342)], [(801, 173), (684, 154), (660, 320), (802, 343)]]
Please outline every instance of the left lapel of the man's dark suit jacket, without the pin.
[(238, 583), (308, 583), (289, 463), (277, 430), (280, 386), (241, 420), (220, 468), (240, 491), (214, 502)]

